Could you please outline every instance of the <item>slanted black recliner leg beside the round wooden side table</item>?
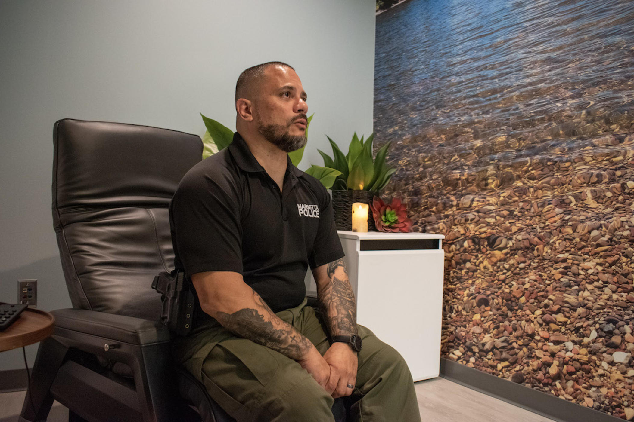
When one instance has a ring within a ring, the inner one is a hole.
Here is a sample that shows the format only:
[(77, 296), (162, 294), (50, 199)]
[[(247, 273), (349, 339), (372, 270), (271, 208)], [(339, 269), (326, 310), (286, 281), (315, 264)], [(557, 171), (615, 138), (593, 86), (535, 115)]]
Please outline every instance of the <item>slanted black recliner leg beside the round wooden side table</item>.
[(53, 405), (53, 396), (50, 393), (50, 388), (67, 352), (68, 347), (53, 337), (46, 338), (40, 342), (39, 349), (37, 349), (36, 363), (31, 371), (31, 380), (37, 380), (37, 383), (30, 382), (24, 404), (22, 405), (20, 422), (46, 421), (46, 417)]

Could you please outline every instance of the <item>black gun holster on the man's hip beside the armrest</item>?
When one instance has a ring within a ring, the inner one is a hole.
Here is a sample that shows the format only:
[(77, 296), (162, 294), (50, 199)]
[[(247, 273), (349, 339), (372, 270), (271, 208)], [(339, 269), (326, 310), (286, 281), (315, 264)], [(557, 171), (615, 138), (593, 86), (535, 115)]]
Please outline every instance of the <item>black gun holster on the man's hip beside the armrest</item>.
[(162, 271), (152, 282), (152, 289), (162, 295), (161, 321), (178, 335), (187, 335), (191, 331), (195, 299), (189, 284), (181, 270)]

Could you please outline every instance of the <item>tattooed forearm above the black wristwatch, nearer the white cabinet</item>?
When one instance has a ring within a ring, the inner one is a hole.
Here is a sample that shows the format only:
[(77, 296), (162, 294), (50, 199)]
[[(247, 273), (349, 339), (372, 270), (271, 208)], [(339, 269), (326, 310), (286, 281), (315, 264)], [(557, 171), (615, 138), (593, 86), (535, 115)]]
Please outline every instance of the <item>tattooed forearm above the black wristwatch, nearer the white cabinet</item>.
[(326, 271), (330, 282), (318, 289), (318, 301), (330, 335), (356, 335), (356, 301), (348, 280), (346, 261), (332, 261)]

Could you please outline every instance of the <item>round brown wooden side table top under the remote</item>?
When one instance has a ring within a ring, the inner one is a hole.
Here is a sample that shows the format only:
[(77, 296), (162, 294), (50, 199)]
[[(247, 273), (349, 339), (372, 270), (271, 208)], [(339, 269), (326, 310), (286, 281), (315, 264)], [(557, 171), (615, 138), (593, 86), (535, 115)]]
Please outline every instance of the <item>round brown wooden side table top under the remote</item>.
[(48, 312), (27, 307), (6, 330), (0, 331), (0, 352), (37, 343), (53, 333), (55, 318)]

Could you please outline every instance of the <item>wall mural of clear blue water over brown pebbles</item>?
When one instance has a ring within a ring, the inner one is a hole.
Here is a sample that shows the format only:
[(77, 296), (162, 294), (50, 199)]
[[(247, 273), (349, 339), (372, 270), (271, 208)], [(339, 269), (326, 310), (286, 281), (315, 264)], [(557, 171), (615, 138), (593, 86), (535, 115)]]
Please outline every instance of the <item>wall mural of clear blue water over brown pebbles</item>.
[(446, 235), (442, 356), (634, 419), (634, 1), (379, 11), (374, 128)]

